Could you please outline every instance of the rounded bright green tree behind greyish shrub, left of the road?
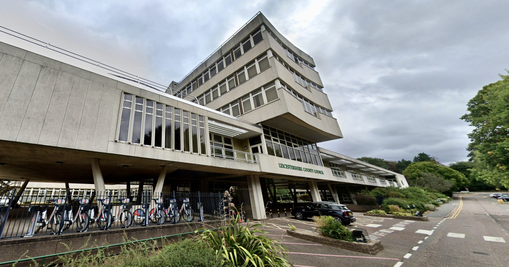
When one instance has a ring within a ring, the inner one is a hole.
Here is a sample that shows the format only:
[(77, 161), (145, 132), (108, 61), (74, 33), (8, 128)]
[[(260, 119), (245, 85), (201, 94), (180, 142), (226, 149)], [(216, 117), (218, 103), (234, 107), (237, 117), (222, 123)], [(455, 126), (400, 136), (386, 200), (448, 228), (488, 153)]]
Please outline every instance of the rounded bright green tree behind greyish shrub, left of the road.
[(454, 191), (458, 191), (463, 189), (465, 186), (468, 186), (468, 179), (465, 175), (457, 170), (440, 165), (433, 161), (412, 162), (405, 171), (403, 171), (403, 175), (406, 176), (407, 181), (415, 182), (422, 176), (422, 173), (425, 172), (433, 173), (439, 175), (445, 180), (453, 181), (455, 185), (451, 189)]

